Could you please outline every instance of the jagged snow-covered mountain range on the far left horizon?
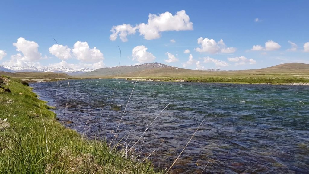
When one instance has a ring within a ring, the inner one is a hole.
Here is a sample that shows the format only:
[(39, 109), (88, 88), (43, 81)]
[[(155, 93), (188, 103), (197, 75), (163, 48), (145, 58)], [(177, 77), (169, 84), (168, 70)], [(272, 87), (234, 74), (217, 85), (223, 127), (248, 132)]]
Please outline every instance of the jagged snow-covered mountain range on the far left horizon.
[(69, 67), (64, 67), (61, 66), (59, 67), (41, 67), (41, 68), (37, 68), (37, 67), (33, 67), (33, 66), (24, 66), (24, 67), (17, 67), (17, 66), (6, 66), (6, 65), (1, 65), (0, 66), (0, 71), (5, 71), (5, 72), (63, 72), (63, 73), (83, 73), (83, 72), (91, 72), (93, 71), (93, 69), (84, 67), (81, 69), (73, 69), (73, 68), (69, 68)]

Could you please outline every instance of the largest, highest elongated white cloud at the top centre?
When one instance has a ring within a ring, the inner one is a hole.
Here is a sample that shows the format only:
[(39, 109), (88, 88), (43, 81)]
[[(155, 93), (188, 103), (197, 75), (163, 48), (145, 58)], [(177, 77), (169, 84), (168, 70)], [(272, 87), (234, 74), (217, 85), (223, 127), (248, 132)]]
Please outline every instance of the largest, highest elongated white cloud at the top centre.
[(128, 41), (127, 36), (135, 34), (136, 31), (147, 40), (161, 37), (161, 32), (193, 30), (193, 23), (184, 10), (178, 11), (176, 15), (165, 12), (159, 15), (149, 14), (148, 23), (141, 23), (132, 27), (130, 24), (113, 26), (110, 40), (115, 41), (120, 36), (121, 41)]

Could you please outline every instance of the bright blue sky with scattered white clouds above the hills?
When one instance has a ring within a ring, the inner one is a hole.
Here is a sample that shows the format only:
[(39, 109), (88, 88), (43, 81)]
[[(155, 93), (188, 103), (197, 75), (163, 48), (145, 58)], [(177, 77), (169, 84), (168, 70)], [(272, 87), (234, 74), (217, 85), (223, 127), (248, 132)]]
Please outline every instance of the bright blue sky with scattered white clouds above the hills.
[[(243, 70), (309, 63), (309, 1), (0, 2), (0, 65), (159, 62)], [(54, 39), (56, 40), (54, 40)]]

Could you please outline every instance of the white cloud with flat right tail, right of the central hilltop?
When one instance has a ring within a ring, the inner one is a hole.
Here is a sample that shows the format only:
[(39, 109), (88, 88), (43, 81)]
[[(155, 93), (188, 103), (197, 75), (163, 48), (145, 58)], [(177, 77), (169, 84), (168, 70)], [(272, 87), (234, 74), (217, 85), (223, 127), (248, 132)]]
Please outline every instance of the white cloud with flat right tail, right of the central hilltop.
[(203, 37), (200, 37), (197, 39), (197, 43), (201, 46), (201, 48), (195, 48), (197, 52), (208, 52), (211, 54), (215, 54), (219, 52), (234, 53), (236, 51), (236, 48), (234, 47), (226, 48), (226, 45), (222, 39), (217, 43), (214, 39), (203, 39)]

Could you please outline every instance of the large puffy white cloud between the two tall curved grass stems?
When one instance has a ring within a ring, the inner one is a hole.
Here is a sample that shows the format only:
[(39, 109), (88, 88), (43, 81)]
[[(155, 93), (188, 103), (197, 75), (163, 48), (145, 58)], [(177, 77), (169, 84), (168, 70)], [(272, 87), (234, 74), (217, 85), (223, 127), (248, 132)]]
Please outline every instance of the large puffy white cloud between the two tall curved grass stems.
[(96, 47), (89, 48), (87, 42), (77, 41), (72, 49), (74, 56), (82, 62), (97, 62), (104, 59), (103, 54)]

